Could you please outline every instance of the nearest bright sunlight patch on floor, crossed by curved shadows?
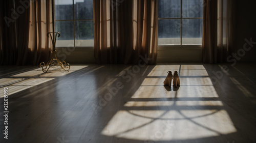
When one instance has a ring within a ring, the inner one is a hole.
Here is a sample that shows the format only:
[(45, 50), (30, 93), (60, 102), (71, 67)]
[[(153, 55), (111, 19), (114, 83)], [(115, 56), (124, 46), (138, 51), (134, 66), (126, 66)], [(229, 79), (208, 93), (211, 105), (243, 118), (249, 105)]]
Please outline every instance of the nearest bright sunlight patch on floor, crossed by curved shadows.
[(182, 140), (236, 131), (225, 110), (120, 110), (101, 134), (138, 140)]

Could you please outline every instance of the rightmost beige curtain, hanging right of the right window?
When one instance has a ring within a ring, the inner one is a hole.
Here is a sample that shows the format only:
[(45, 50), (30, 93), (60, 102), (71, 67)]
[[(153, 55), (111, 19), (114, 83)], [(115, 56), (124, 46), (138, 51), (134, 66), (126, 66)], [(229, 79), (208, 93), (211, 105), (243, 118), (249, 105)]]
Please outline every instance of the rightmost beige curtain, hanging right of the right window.
[(204, 0), (203, 63), (227, 61), (233, 47), (235, 6), (234, 0)]

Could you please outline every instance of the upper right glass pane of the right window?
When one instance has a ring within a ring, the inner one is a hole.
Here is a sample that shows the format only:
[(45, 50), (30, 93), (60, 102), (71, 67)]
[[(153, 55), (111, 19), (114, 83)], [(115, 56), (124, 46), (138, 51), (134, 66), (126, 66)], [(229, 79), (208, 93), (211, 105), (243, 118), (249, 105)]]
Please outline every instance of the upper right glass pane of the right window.
[(182, 17), (203, 17), (203, 0), (182, 0)]

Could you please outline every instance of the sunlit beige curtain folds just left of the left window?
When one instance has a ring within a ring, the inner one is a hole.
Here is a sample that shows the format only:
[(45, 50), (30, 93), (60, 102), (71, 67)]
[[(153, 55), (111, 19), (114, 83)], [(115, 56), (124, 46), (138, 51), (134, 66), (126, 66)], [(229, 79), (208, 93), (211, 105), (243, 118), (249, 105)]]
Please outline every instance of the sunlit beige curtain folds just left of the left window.
[(47, 62), (51, 55), (52, 44), (47, 32), (52, 32), (51, 1), (37, 0), (30, 3), (30, 27), (28, 60), (32, 65)]

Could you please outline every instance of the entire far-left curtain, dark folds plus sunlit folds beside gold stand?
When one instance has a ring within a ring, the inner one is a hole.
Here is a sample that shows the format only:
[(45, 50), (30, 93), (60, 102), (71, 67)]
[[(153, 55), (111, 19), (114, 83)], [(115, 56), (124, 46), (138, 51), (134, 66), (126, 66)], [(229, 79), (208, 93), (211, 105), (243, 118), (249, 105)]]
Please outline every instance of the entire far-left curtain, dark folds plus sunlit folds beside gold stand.
[[(47, 61), (51, 53), (51, 2), (0, 2), (0, 64), (37, 65)], [(15, 12), (12, 11), (15, 10)]]

